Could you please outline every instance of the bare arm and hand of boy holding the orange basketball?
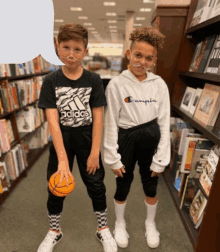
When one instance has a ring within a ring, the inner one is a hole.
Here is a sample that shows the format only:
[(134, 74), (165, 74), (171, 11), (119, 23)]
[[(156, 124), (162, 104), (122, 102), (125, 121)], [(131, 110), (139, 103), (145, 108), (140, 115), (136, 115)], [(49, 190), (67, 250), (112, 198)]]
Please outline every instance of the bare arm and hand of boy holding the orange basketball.
[(62, 181), (64, 178), (68, 179), (68, 174), (72, 177), (72, 173), (69, 169), (69, 161), (60, 130), (58, 110), (56, 108), (46, 108), (46, 117), (58, 159), (57, 173), (60, 173), (60, 181)]

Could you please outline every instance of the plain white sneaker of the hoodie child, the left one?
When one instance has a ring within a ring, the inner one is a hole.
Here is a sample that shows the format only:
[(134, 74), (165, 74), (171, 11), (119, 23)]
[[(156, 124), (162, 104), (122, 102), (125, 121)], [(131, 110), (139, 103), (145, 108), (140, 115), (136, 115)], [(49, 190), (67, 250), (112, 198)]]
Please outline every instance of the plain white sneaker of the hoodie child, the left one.
[(126, 248), (128, 246), (129, 234), (126, 230), (126, 224), (115, 222), (115, 230), (113, 231), (115, 235), (115, 241), (120, 248)]

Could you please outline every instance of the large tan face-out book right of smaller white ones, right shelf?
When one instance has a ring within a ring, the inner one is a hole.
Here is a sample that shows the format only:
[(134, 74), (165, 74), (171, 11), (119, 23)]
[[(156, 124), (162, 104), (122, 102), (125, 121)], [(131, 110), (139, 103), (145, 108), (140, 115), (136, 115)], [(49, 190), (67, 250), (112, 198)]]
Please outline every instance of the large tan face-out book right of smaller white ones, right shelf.
[(215, 112), (215, 106), (220, 102), (219, 97), (220, 87), (206, 83), (194, 117), (202, 124), (209, 125), (213, 120), (212, 113)]

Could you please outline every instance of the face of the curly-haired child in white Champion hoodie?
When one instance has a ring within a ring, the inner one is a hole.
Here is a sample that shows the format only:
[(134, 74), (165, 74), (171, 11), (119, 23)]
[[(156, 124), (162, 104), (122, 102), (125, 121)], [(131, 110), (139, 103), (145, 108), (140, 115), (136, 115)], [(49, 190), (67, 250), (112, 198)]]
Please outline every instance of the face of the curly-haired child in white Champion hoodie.
[(151, 69), (157, 60), (157, 49), (144, 41), (135, 41), (126, 54), (130, 61), (130, 71), (139, 80), (146, 78), (146, 71)]

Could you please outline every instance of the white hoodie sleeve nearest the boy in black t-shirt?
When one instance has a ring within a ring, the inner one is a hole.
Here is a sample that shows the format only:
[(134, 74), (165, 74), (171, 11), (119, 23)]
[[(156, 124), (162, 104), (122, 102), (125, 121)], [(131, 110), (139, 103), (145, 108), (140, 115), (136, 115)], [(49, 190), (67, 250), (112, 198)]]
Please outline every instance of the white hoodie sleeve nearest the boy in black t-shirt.
[(121, 109), (119, 98), (113, 82), (110, 81), (106, 88), (107, 106), (104, 109), (103, 127), (103, 162), (111, 169), (120, 169), (123, 164), (121, 155), (117, 152), (118, 146), (118, 119)]

